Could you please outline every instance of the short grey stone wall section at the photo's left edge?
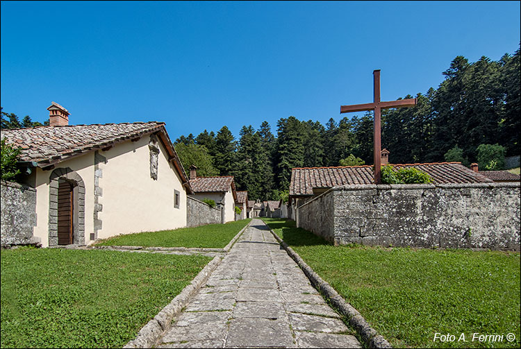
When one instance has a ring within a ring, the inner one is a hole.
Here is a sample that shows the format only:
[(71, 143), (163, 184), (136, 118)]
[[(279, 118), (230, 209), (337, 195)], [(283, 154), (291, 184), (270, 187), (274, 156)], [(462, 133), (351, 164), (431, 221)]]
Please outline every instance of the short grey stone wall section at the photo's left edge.
[(1, 245), (35, 244), (36, 190), (14, 182), (0, 182)]

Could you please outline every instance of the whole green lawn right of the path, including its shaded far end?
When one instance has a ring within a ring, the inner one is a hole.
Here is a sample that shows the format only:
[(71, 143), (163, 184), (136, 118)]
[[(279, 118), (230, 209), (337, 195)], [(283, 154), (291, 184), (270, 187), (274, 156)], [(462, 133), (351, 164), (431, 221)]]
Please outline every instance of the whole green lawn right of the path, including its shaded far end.
[[(294, 221), (263, 220), (392, 346), (520, 347), (520, 253), (331, 246)], [(456, 339), (433, 341), (436, 332)]]

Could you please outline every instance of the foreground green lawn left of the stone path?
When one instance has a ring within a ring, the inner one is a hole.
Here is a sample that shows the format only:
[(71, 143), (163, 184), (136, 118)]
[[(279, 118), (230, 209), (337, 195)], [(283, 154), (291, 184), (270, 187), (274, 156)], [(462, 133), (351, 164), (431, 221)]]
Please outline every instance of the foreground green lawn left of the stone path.
[(122, 348), (210, 257), (1, 250), (1, 348)]

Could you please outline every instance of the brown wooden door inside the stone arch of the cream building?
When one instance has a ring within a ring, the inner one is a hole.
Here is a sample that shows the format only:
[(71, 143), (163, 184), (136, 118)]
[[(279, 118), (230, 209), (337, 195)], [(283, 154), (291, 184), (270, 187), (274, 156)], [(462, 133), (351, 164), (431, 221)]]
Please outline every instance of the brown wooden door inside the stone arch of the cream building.
[(58, 245), (69, 245), (72, 239), (72, 185), (58, 180)]

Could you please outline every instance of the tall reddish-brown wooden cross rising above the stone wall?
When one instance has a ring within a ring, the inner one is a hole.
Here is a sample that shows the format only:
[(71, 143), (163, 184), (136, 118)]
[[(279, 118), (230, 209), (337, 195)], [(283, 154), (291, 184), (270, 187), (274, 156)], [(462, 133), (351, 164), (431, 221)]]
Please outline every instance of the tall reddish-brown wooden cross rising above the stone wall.
[(374, 76), (374, 102), (354, 105), (340, 105), (340, 114), (344, 112), (362, 112), (374, 110), (374, 184), (381, 184), (381, 110), (388, 108), (412, 107), (416, 99), (399, 99), (398, 101), (380, 101), (380, 69), (372, 72)]

